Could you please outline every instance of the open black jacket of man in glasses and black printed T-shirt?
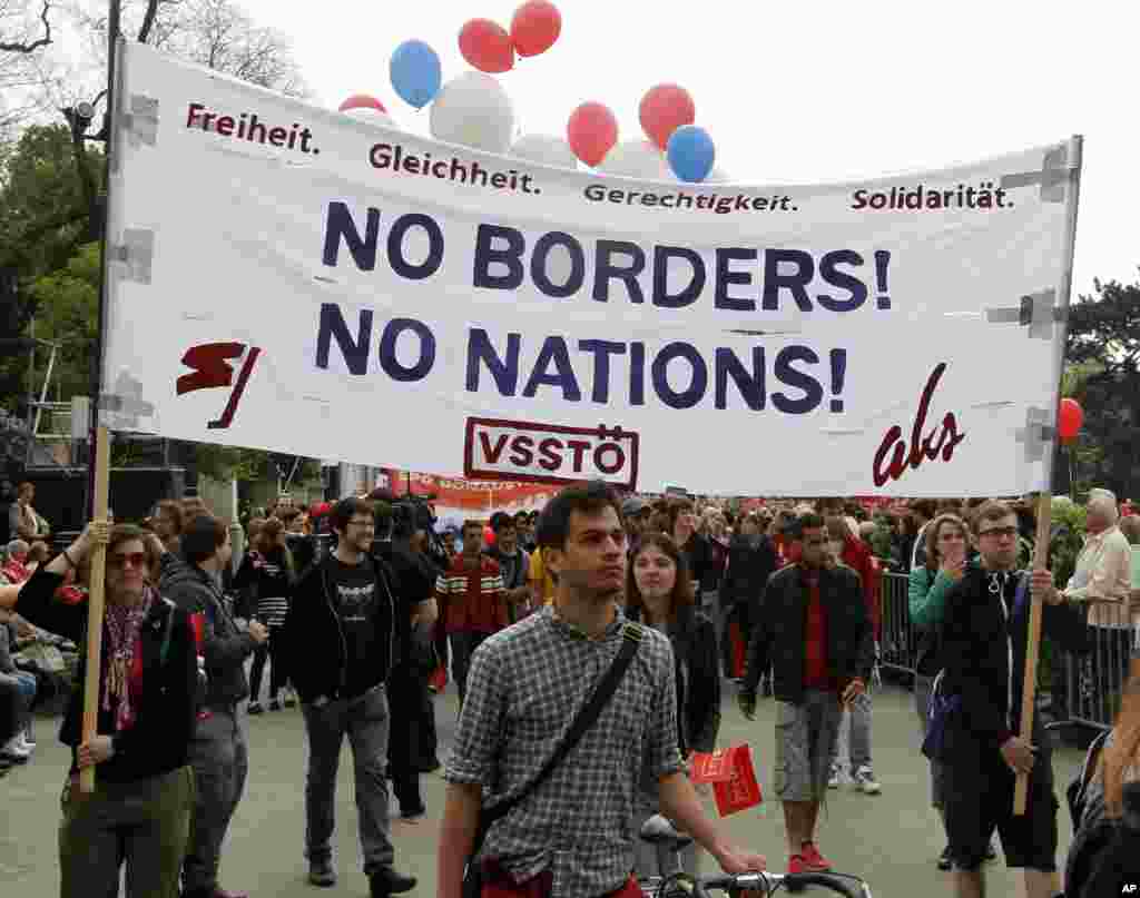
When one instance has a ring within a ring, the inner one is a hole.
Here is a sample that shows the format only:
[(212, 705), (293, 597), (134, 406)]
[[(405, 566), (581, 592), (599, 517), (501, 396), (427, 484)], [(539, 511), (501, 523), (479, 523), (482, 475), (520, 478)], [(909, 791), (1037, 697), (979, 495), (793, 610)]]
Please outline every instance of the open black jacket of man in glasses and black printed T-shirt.
[[(298, 696), (306, 703), (321, 695), (341, 697), (348, 681), (348, 645), (331, 581), (334, 557), (326, 555), (301, 574), (293, 588), (288, 617), (280, 634), (285, 670)], [(398, 603), (392, 569), (370, 556), (365, 556), (360, 563), (369, 565), (376, 575), (373, 624), (380, 651), (372, 668), (375, 681), (369, 684), (370, 688), (389, 678), (397, 660)]]

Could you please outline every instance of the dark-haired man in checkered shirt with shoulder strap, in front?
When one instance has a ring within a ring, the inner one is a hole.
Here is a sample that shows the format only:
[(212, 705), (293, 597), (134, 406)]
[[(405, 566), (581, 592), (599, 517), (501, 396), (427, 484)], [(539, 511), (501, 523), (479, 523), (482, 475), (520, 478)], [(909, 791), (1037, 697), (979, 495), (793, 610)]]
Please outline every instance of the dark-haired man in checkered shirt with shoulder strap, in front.
[[(484, 803), (534, 779), (621, 647), (626, 534), (602, 483), (571, 487), (546, 506), (538, 546), (556, 577), (554, 603), (474, 653), (448, 760), (438, 895), (457, 898)], [(641, 898), (633, 870), (634, 793), (649, 765), (661, 813), (727, 873), (764, 858), (724, 841), (693, 791), (677, 748), (669, 640), (646, 630), (618, 691), (547, 779), (487, 835), (483, 898)]]

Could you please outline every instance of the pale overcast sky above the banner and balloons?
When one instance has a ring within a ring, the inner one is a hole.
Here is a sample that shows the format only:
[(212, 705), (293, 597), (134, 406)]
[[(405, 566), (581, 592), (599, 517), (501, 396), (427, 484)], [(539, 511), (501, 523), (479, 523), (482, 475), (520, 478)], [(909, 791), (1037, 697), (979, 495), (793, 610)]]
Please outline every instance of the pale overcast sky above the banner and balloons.
[[(467, 65), (469, 18), (510, 27), (515, 0), (241, 0), (293, 42), (315, 101), (376, 96), (427, 133), (427, 108), (389, 82), (408, 38), (435, 48), (445, 82)], [(1140, 266), (1140, 5), (1085, 0), (562, 0), (546, 54), (499, 77), (523, 133), (565, 134), (584, 100), (608, 104), (619, 139), (641, 136), (637, 104), (671, 81), (697, 101), (717, 163), (748, 183), (804, 183), (939, 168), (1082, 133), (1084, 177), (1074, 291), (1134, 283)]]

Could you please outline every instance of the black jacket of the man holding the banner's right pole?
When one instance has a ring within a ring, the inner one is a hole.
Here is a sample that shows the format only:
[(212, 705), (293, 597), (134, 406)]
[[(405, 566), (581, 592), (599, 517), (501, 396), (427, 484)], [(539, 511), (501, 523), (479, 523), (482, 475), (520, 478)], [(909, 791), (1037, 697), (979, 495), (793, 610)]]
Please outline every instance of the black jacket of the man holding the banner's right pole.
[[(947, 717), (943, 757), (936, 760), (976, 764), (1020, 730), (1032, 606), (1028, 589), (1025, 601), (1018, 605), (1017, 587), (1021, 575), (1010, 574), (1005, 583), (1008, 627), (1001, 599), (990, 591), (993, 575), (977, 564), (967, 565), (962, 579), (946, 594), (942, 626), (945, 676), (939, 693), (947, 697), (960, 696), (961, 701), (956, 702), (960, 710)], [(1045, 605), (1042, 611), (1042, 636), (1074, 654), (1088, 651), (1089, 635), (1081, 607)]]

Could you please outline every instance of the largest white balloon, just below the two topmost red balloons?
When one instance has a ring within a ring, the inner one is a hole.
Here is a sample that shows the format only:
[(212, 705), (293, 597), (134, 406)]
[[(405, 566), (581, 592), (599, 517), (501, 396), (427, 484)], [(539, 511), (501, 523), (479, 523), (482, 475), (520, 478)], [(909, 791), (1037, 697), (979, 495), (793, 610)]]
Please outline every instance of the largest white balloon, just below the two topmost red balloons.
[(431, 133), (437, 140), (506, 153), (514, 133), (511, 98), (490, 75), (464, 72), (448, 81), (432, 101)]

